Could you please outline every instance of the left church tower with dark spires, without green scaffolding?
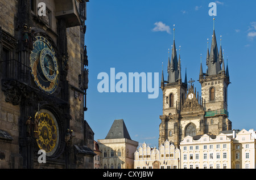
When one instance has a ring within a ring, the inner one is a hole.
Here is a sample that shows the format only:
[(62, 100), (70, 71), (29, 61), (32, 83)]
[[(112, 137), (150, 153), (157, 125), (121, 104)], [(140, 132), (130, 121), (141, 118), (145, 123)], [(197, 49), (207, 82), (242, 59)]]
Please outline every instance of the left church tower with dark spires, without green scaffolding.
[[(174, 29), (175, 31), (175, 29)], [(168, 57), (168, 80), (164, 80), (162, 72), (161, 88), (163, 90), (163, 115), (160, 116), (159, 145), (166, 140), (178, 142), (179, 139), (179, 112), (187, 92), (187, 74), (185, 81), (181, 79), (181, 59), (177, 59), (177, 50), (174, 39), (171, 59)]]

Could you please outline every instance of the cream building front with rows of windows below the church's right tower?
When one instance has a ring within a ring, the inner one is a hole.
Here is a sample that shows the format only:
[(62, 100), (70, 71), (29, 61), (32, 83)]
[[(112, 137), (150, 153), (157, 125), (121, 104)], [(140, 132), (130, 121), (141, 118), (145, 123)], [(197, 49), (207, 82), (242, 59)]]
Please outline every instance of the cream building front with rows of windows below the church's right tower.
[(187, 136), (180, 143), (181, 169), (255, 169), (255, 131)]

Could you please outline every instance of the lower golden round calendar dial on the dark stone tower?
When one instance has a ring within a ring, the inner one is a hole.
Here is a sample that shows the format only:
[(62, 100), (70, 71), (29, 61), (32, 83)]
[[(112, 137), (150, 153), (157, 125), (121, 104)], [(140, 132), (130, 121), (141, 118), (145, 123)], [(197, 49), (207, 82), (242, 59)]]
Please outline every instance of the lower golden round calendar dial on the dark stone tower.
[(46, 151), (47, 156), (53, 155), (59, 143), (59, 127), (56, 118), (48, 110), (43, 109), (39, 112), (38, 132), (39, 148)]

